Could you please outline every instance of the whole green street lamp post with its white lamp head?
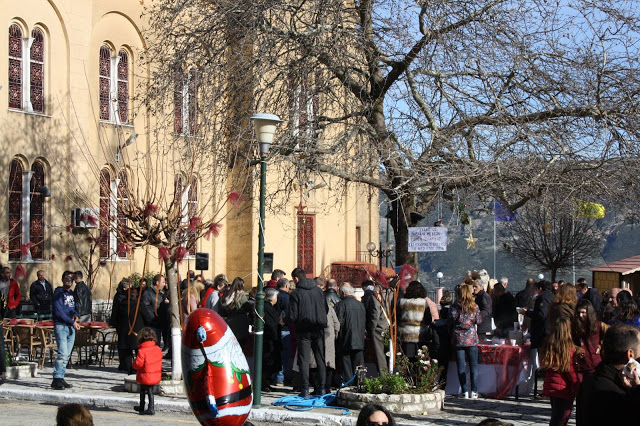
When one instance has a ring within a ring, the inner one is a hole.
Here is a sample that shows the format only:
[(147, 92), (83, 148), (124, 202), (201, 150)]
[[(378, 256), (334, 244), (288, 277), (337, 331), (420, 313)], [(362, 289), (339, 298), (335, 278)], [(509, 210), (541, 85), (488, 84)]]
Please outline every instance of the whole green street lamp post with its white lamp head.
[(264, 216), (267, 186), (267, 155), (273, 143), (280, 117), (273, 114), (255, 114), (251, 117), (260, 145), (260, 219), (258, 229), (258, 292), (256, 293), (256, 319), (253, 346), (253, 405), (262, 400), (262, 341), (264, 333)]

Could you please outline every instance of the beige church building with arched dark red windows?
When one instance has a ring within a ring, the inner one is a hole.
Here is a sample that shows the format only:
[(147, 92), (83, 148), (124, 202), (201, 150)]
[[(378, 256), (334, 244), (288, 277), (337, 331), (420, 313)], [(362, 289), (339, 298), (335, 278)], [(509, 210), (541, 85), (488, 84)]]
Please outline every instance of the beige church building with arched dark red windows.
[[(113, 231), (118, 203), (126, 202), (122, 188), (140, 190), (144, 180), (144, 169), (127, 168), (127, 161), (144, 156), (153, 123), (163, 119), (136, 105), (136, 91), (150, 75), (142, 60), (148, 41), (140, 3), (0, 0), (0, 263), (14, 272), (24, 267), (23, 300), (36, 271), (60, 285), (64, 270), (83, 269), (90, 248), (95, 264), (99, 259), (95, 299), (111, 298), (119, 279), (142, 272), (145, 259), (148, 270), (160, 271), (157, 249), (127, 252)], [(193, 123), (185, 87), (180, 114), (172, 116), (179, 117), (175, 131), (187, 135)], [(207, 182), (178, 174), (145, 185), (166, 192), (165, 203), (178, 199), (179, 186), (185, 209), (202, 204)], [(269, 169), (267, 192), (278, 187), (279, 176)], [(220, 234), (199, 238), (181, 271), (195, 269), (195, 252), (206, 253), (205, 277), (224, 272), (256, 285), (257, 186), (248, 192), (242, 211), (216, 207), (223, 213)], [(359, 260), (367, 242), (378, 241), (376, 192), (317, 176), (289, 195), (277, 212), (267, 212), (267, 271), (288, 274), (300, 265), (320, 275), (332, 262)], [(103, 225), (105, 217), (113, 226)]]

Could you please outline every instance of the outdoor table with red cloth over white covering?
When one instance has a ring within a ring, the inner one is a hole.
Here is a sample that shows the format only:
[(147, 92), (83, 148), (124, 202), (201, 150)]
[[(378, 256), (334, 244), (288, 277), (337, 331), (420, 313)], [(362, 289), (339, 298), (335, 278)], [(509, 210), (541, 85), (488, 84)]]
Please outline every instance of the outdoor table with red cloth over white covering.
[[(491, 398), (503, 399), (509, 395), (528, 395), (533, 386), (530, 364), (531, 344), (478, 345), (478, 392)], [(471, 385), (469, 363), (467, 362), (467, 384)], [(447, 387), (445, 392), (457, 395), (461, 392), (458, 369), (453, 359), (449, 362)]]

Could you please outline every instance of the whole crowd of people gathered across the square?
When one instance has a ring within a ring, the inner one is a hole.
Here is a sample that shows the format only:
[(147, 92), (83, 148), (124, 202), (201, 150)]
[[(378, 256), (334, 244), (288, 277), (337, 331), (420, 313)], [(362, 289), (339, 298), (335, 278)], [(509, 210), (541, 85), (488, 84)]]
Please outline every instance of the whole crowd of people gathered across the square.
[[(11, 279), (9, 268), (0, 267), (0, 272), (2, 314), (13, 318), (20, 287)], [(293, 386), (301, 397), (323, 395), (351, 380), (365, 364), (365, 353), (377, 370), (370, 375), (388, 372), (385, 338), (391, 321), (374, 281), (365, 280), (356, 287), (334, 279), (310, 279), (300, 268), (291, 272), (291, 279), (286, 275), (276, 269), (265, 286), (263, 382), (256, 385), (265, 391)], [(30, 287), (30, 300), (38, 315), (52, 317), (58, 344), (51, 386), (69, 388), (65, 369), (75, 331), (80, 323), (91, 320), (91, 291), (79, 271), (65, 271), (62, 286), (55, 291), (43, 271), (38, 271), (37, 278)], [(212, 309), (225, 319), (240, 345), (247, 347), (255, 288), (245, 291), (240, 277), (229, 280), (219, 274), (209, 280), (192, 271), (180, 287), (183, 320), (199, 307)], [(601, 294), (582, 278), (576, 285), (529, 279), (516, 294), (508, 288), (508, 278), (497, 281), (484, 271), (469, 273), (453, 294), (442, 293), (438, 307), (419, 281), (408, 283), (395, 301), (402, 353), (412, 359), (427, 346), (431, 358), (443, 367), (442, 382), (449, 359), (455, 359), (460, 397), (477, 399), (478, 343), (483, 337), (505, 338), (519, 329), (530, 339), (544, 375), (550, 425), (566, 425), (576, 400), (579, 425), (611, 420), (611, 410), (602, 417), (595, 408), (602, 401), (619, 407), (613, 416), (623, 419), (620, 413), (628, 413), (640, 396), (638, 371), (625, 367), (629, 360), (640, 359), (640, 298), (634, 299), (629, 289)], [(156, 275), (139, 287), (123, 279), (109, 324), (118, 334), (118, 368), (128, 374), (137, 372), (143, 384), (138, 411), (153, 414), (149, 389), (159, 381), (162, 357), (171, 356), (165, 277)], [(630, 371), (623, 375), (625, 368)], [(146, 409), (145, 398), (149, 400)]]

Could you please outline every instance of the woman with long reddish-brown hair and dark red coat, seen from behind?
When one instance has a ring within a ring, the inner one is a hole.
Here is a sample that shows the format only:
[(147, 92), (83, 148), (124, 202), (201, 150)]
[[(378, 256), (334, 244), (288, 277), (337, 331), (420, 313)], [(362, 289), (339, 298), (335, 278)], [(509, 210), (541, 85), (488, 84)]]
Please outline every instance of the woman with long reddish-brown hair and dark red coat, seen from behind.
[(584, 358), (584, 350), (573, 343), (569, 318), (558, 318), (551, 330), (540, 363), (545, 370), (542, 394), (551, 399), (549, 426), (564, 426), (580, 386), (581, 373), (576, 365)]

